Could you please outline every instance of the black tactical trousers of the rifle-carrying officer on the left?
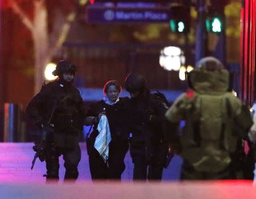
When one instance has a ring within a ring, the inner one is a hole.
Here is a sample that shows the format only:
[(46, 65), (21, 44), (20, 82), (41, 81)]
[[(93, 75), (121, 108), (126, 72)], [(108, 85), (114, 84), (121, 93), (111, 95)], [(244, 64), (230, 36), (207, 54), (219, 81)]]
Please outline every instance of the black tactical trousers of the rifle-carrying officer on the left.
[(79, 176), (77, 169), (81, 160), (79, 145), (72, 149), (57, 148), (53, 145), (47, 148), (46, 153), (47, 179), (59, 179), (59, 156), (63, 155), (65, 167), (65, 180), (76, 180)]

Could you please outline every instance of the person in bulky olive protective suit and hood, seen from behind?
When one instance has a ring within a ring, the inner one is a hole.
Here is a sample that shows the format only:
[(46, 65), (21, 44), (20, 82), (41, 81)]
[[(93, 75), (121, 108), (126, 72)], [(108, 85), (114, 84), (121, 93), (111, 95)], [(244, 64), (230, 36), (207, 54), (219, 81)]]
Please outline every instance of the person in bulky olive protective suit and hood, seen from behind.
[(166, 113), (171, 123), (185, 121), (181, 178), (236, 178), (232, 157), (238, 141), (247, 139), (250, 111), (229, 91), (229, 72), (216, 58), (201, 59), (187, 76), (192, 90), (181, 94)]

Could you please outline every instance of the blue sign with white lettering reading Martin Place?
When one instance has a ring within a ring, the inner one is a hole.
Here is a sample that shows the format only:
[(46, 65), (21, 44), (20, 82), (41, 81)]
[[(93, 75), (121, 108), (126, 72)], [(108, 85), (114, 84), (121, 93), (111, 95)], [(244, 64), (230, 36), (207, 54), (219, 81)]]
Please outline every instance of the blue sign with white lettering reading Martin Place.
[(168, 23), (170, 10), (163, 8), (102, 8), (88, 7), (86, 9), (86, 21), (88, 23)]

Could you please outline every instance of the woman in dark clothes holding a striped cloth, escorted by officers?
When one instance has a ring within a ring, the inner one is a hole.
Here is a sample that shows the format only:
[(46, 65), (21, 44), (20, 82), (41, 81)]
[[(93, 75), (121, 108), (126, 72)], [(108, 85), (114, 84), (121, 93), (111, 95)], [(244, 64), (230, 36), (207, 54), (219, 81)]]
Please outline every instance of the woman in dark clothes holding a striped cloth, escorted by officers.
[[(89, 167), (92, 180), (121, 180), (121, 175), (125, 171), (123, 160), (129, 148), (129, 124), (127, 121), (129, 98), (119, 98), (121, 90), (122, 87), (116, 80), (106, 82), (104, 86), (104, 99), (90, 106), (85, 119), (86, 126), (94, 125), (93, 131), (86, 142), (88, 145)], [(99, 129), (101, 129), (99, 124), (102, 125), (102, 116), (106, 116), (108, 119), (111, 135), (111, 138), (108, 138), (108, 130), (106, 130), (106, 139), (102, 139), (104, 142), (111, 140), (109, 144), (105, 143), (105, 147), (108, 147), (106, 157), (96, 150), (97, 146), (102, 144), (98, 140)]]

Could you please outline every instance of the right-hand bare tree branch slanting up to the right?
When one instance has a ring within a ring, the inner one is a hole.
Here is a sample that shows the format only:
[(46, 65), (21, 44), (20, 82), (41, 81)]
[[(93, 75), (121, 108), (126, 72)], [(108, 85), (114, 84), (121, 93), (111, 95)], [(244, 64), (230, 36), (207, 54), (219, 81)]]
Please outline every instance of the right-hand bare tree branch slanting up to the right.
[(52, 45), (52, 47), (49, 50), (49, 57), (52, 57), (57, 49), (61, 47), (61, 45), (65, 42), (65, 39), (67, 38), (69, 29), (71, 27), (72, 22), (76, 18), (76, 13), (73, 11), (72, 13), (69, 13), (67, 16), (67, 19), (65, 20), (65, 23), (63, 24), (61, 31), (59, 32), (58, 39), (56, 40), (55, 44)]

